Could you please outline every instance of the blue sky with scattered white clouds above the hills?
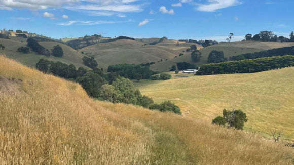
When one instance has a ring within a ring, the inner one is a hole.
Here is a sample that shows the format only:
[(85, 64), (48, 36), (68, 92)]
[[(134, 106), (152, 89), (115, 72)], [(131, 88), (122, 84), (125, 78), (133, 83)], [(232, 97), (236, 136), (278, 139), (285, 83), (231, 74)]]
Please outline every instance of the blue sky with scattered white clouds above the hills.
[(243, 40), (294, 30), (293, 0), (0, 0), (0, 29), (52, 38), (85, 35)]

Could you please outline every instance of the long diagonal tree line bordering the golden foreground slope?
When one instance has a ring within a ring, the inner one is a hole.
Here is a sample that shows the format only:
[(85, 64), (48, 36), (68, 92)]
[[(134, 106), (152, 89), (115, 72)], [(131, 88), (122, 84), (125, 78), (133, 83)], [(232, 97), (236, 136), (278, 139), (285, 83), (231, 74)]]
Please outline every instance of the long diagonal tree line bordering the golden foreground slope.
[(112, 103), (125, 103), (142, 106), (159, 111), (180, 113), (178, 106), (171, 102), (154, 104), (152, 98), (141, 95), (134, 88), (131, 80), (122, 77), (118, 72), (104, 74), (100, 69), (86, 70), (83, 67), (76, 69), (74, 65), (62, 62), (52, 62), (44, 59), (36, 64), (36, 69), (79, 83), (90, 97)]

